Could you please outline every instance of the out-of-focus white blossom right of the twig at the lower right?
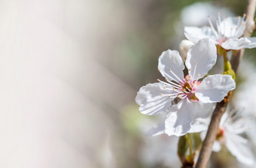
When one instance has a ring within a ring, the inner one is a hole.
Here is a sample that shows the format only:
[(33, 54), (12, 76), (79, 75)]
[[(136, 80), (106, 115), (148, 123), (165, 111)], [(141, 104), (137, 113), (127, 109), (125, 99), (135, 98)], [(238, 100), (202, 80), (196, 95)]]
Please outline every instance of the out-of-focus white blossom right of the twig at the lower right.
[[(242, 118), (236, 110), (224, 113), (212, 150), (218, 152), (221, 150), (221, 145), (226, 145), (239, 162), (251, 166), (254, 163), (254, 155), (246, 145), (247, 139), (239, 135), (245, 133), (250, 124), (251, 118)], [(206, 131), (203, 131), (201, 139), (205, 136)]]

